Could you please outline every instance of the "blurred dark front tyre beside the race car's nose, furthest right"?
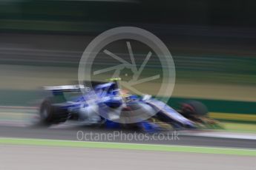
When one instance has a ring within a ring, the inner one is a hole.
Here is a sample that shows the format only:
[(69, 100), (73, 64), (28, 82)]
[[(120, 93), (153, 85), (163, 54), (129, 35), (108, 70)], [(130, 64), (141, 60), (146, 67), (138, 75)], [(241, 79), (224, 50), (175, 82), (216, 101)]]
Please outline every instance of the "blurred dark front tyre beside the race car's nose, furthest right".
[(181, 112), (183, 115), (208, 115), (207, 106), (200, 101), (186, 101), (181, 104)]

